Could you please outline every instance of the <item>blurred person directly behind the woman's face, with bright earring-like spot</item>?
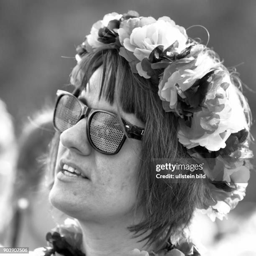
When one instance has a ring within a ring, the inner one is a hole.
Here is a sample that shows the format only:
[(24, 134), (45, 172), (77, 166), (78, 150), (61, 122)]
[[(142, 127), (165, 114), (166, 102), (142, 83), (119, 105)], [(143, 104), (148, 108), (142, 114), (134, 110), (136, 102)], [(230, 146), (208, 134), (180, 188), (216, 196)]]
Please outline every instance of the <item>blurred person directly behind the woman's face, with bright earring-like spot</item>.
[(52, 116), (51, 108), (36, 112), (20, 134), (9, 240), (12, 247), (36, 248), (44, 243), (46, 231), (56, 225), (45, 178), (49, 143), (54, 134)]

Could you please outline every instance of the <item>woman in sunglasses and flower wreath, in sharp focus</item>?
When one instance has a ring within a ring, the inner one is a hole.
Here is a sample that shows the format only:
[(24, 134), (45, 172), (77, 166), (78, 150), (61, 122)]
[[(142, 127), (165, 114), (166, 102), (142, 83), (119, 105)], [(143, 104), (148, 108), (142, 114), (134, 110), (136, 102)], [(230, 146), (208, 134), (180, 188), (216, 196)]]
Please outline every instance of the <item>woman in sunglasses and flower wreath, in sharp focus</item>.
[[(223, 218), (251, 168), (236, 81), (173, 20), (134, 11), (95, 23), (76, 59), (76, 89), (57, 92), (49, 196), (76, 220), (47, 234), (44, 254), (199, 255), (187, 232), (195, 209)], [(201, 178), (170, 178), (167, 161)]]

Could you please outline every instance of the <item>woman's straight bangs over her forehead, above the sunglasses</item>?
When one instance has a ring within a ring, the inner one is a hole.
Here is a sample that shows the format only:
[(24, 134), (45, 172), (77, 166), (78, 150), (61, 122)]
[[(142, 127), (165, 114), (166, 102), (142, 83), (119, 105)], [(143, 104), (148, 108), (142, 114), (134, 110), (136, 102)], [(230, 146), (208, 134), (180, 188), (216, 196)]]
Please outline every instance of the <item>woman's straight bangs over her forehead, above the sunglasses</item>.
[[(158, 87), (153, 87), (145, 79), (131, 71), (128, 62), (116, 49), (104, 49), (84, 54), (82, 61), (73, 69), (71, 77), (80, 90), (90, 86), (90, 77), (102, 66), (99, 100), (103, 97), (110, 105), (118, 106), (118, 111), (132, 113), (146, 123), (148, 106), (152, 105), (152, 95), (157, 95)], [(157, 97), (154, 97), (154, 101)]]

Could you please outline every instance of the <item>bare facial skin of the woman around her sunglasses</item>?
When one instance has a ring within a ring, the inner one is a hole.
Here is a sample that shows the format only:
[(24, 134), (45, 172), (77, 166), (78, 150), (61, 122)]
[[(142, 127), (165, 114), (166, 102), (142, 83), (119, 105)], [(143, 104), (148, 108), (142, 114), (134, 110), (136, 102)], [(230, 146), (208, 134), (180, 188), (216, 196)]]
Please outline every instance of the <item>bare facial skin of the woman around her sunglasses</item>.
[[(90, 108), (117, 113), (103, 97), (98, 100), (102, 68), (95, 71), (80, 99)], [(144, 127), (135, 115), (122, 113), (128, 122)], [(87, 139), (87, 118), (60, 136), (50, 201), (59, 210), (79, 220), (101, 221), (133, 214), (136, 202), (137, 172), (141, 142), (126, 139), (115, 155), (95, 151)], [(78, 169), (88, 179), (63, 174), (63, 165)]]

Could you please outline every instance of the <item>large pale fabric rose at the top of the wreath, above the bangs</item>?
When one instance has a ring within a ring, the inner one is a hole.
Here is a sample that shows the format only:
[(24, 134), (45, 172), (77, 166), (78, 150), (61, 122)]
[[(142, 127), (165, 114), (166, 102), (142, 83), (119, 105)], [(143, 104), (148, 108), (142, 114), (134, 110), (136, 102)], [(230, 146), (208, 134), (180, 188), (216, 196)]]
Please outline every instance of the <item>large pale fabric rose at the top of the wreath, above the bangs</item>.
[[(142, 20), (143, 21), (143, 20)], [(132, 23), (134, 22), (134, 23)], [(151, 52), (156, 46), (164, 46), (164, 50), (170, 45), (178, 42), (178, 46), (175, 52), (180, 53), (186, 48), (187, 33), (183, 27), (180, 27), (174, 23), (168, 17), (159, 18), (156, 22), (153, 19), (148, 18), (145, 22), (153, 22), (143, 27), (135, 27), (139, 24), (139, 20), (131, 20), (130, 26), (123, 28), (120, 31), (120, 42), (126, 50), (133, 52), (133, 55), (139, 60), (136, 64), (138, 74), (145, 78), (150, 76), (141, 67), (141, 61), (144, 58), (148, 58)], [(133, 28), (132, 32), (131, 29)], [(131, 32), (131, 35), (129, 33)]]

